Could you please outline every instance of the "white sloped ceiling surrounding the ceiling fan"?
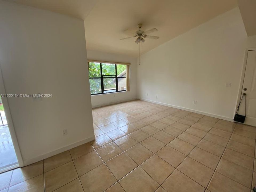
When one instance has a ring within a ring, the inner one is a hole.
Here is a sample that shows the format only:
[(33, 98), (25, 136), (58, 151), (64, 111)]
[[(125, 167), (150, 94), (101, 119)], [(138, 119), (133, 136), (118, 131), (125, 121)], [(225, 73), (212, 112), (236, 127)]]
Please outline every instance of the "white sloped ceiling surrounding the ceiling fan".
[[(138, 56), (139, 45), (125, 29), (136, 31), (153, 27), (151, 35), (159, 39), (146, 39), (145, 53), (185, 33), (186, 31), (233, 9), (237, 0), (8, 0), (15, 3), (51, 10), (85, 20), (86, 45), (89, 50)], [(253, 0), (255, 1), (255, 0)]]

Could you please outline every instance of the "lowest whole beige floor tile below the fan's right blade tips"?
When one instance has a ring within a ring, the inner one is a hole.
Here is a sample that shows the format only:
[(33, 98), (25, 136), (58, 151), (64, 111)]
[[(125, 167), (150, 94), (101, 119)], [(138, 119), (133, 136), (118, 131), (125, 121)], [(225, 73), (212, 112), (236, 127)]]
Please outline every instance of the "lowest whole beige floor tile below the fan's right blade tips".
[(140, 167), (146, 171), (155, 181), (161, 185), (165, 179), (174, 171), (174, 167), (157, 155), (153, 155), (147, 161), (142, 163)]

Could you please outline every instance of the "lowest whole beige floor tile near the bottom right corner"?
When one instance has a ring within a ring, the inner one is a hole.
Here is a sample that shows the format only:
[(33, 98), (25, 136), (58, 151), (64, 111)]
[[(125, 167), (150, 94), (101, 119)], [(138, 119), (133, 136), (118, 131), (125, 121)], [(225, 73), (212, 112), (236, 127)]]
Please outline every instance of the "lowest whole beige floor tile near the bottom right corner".
[(246, 187), (251, 187), (252, 171), (249, 169), (227, 161), (226, 159), (221, 159), (216, 171)]

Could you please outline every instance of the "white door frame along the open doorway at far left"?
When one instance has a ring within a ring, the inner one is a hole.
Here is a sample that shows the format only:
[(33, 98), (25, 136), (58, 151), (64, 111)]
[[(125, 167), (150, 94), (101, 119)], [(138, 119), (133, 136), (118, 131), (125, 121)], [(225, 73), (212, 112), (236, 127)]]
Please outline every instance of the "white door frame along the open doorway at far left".
[[(1, 94), (6, 94), (1, 63), (0, 63), (0, 90), (1, 90)], [(9, 131), (10, 131), (11, 140), (13, 142), (13, 147), (14, 147), (15, 154), (16, 154), (16, 157), (17, 157), (17, 160), (18, 160), (18, 163), (19, 163), (19, 167), (24, 167), (23, 158), (22, 158), (22, 155), (21, 155), (21, 151), (19, 149), (19, 143), (18, 143), (18, 140), (17, 140), (17, 136), (16, 136), (16, 133), (15, 133), (14, 126), (13, 126), (13, 120), (11, 118), (11, 111), (10, 111), (10, 107), (9, 107), (9, 103), (8, 103), (8, 98), (7, 97), (2, 97), (2, 102), (4, 103), (7, 125), (8, 125), (8, 128), (9, 128)]]

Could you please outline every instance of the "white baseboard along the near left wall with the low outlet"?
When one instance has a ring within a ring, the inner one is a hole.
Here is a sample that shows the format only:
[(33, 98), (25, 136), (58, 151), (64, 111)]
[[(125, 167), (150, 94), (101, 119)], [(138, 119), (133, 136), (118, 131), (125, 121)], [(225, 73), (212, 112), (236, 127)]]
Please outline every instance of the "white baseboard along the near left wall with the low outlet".
[(82, 145), (82, 144), (84, 144), (84, 143), (88, 143), (88, 142), (90, 142), (90, 141), (93, 141), (94, 139), (95, 139), (95, 135), (92, 136), (92, 137), (89, 137), (89, 138), (87, 138), (87, 139), (83, 139), (83, 140), (81, 140), (81, 141), (72, 143), (71, 145), (67, 145), (67, 146), (65, 146), (65, 147), (59, 148), (59, 149), (54, 150), (54, 151), (51, 151), (51, 152), (49, 152), (49, 153), (40, 155), (40, 156), (38, 156), (38, 157), (35, 157), (35, 158), (32, 158), (32, 159), (25, 159), (25, 160), (23, 160), (24, 166), (27, 166), (27, 165), (30, 165), (30, 164), (32, 164), (32, 163), (41, 161), (41, 160), (46, 159), (46, 158), (48, 158), (48, 157), (52, 157), (53, 155), (57, 155), (57, 154), (59, 154), (59, 153), (62, 153), (62, 152), (64, 152), (64, 151), (67, 151), (67, 150), (69, 150), (69, 149), (72, 149), (72, 148), (74, 148), (74, 147), (77, 147), (77, 146)]

